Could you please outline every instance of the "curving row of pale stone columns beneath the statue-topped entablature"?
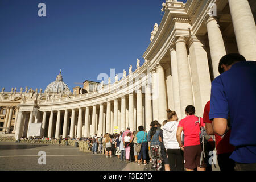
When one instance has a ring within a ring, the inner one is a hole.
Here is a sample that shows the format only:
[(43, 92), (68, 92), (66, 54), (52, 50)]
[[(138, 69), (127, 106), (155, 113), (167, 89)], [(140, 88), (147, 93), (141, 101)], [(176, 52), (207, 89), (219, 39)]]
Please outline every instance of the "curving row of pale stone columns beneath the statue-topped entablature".
[[(247, 60), (256, 60), (256, 28), (249, 3), (247, 0), (228, 2), (238, 51)], [(209, 69), (212, 68), (213, 77), (217, 77), (218, 61), (226, 54), (216, 18), (208, 14), (204, 23), (208, 33), (209, 63), (204, 40), (196, 32), (193, 35), (184, 32), (174, 34), (174, 38), (168, 39), (171, 40), (167, 50), (170, 67), (167, 68), (166, 63), (159, 59), (151, 60), (156, 63), (146, 63), (152, 75), (150, 84), (147, 82), (143, 87), (133, 88), (132, 92), (123, 92), (126, 94), (119, 97), (109, 97), (113, 98), (111, 100), (102, 94), (100, 103), (82, 107), (82, 103), (79, 103), (72, 109), (49, 109), (39, 112), (36, 117), (32, 111), (19, 111), (15, 137), (26, 134), (27, 122), (42, 122), (42, 135), (45, 137), (89, 137), (115, 133), (117, 127), (118, 132), (126, 127), (134, 131), (143, 125), (149, 131), (151, 121), (162, 123), (167, 119), (166, 109), (170, 106), (179, 119), (185, 117), (187, 105), (194, 105), (196, 114), (202, 116), (204, 105), (210, 99)], [(9, 121), (6, 123), (9, 125)]]

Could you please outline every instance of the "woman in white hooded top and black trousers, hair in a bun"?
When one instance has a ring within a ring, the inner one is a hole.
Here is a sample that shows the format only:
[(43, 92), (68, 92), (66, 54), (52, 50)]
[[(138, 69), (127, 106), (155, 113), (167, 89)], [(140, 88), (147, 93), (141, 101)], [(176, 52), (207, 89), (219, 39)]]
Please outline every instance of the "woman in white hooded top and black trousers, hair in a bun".
[(183, 151), (177, 142), (176, 133), (179, 125), (175, 111), (167, 110), (168, 122), (163, 126), (163, 142), (167, 150), (171, 171), (183, 171)]

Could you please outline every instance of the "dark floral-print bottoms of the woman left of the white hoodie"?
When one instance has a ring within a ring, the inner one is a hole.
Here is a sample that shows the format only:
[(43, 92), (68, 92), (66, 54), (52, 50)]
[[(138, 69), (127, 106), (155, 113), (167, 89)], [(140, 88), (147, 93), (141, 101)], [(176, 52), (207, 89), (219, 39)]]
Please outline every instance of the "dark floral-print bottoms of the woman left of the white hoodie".
[(161, 155), (161, 147), (159, 145), (150, 146), (152, 154), (152, 166), (151, 169), (154, 171), (160, 171), (162, 168), (163, 158)]

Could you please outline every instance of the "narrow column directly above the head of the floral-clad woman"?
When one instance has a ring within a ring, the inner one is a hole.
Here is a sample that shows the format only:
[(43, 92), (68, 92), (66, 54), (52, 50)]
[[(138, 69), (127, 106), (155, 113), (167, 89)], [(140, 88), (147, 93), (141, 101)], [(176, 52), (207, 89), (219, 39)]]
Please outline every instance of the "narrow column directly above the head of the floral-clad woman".
[(152, 103), (153, 103), (153, 120), (158, 121), (158, 96), (159, 96), (159, 84), (158, 74), (155, 69), (152, 69)]

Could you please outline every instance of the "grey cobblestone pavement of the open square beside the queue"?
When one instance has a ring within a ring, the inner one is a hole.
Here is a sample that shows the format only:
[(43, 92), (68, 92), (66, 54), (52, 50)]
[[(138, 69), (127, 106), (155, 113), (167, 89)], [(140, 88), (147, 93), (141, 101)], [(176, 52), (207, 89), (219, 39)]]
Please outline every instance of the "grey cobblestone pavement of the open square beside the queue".
[[(39, 151), (46, 152), (46, 165), (38, 164)], [(24, 144), (0, 142), (0, 170), (79, 170), (79, 171), (122, 171), (144, 170), (144, 166), (120, 162), (117, 157), (106, 158), (105, 155), (79, 151), (74, 146), (58, 144)]]

